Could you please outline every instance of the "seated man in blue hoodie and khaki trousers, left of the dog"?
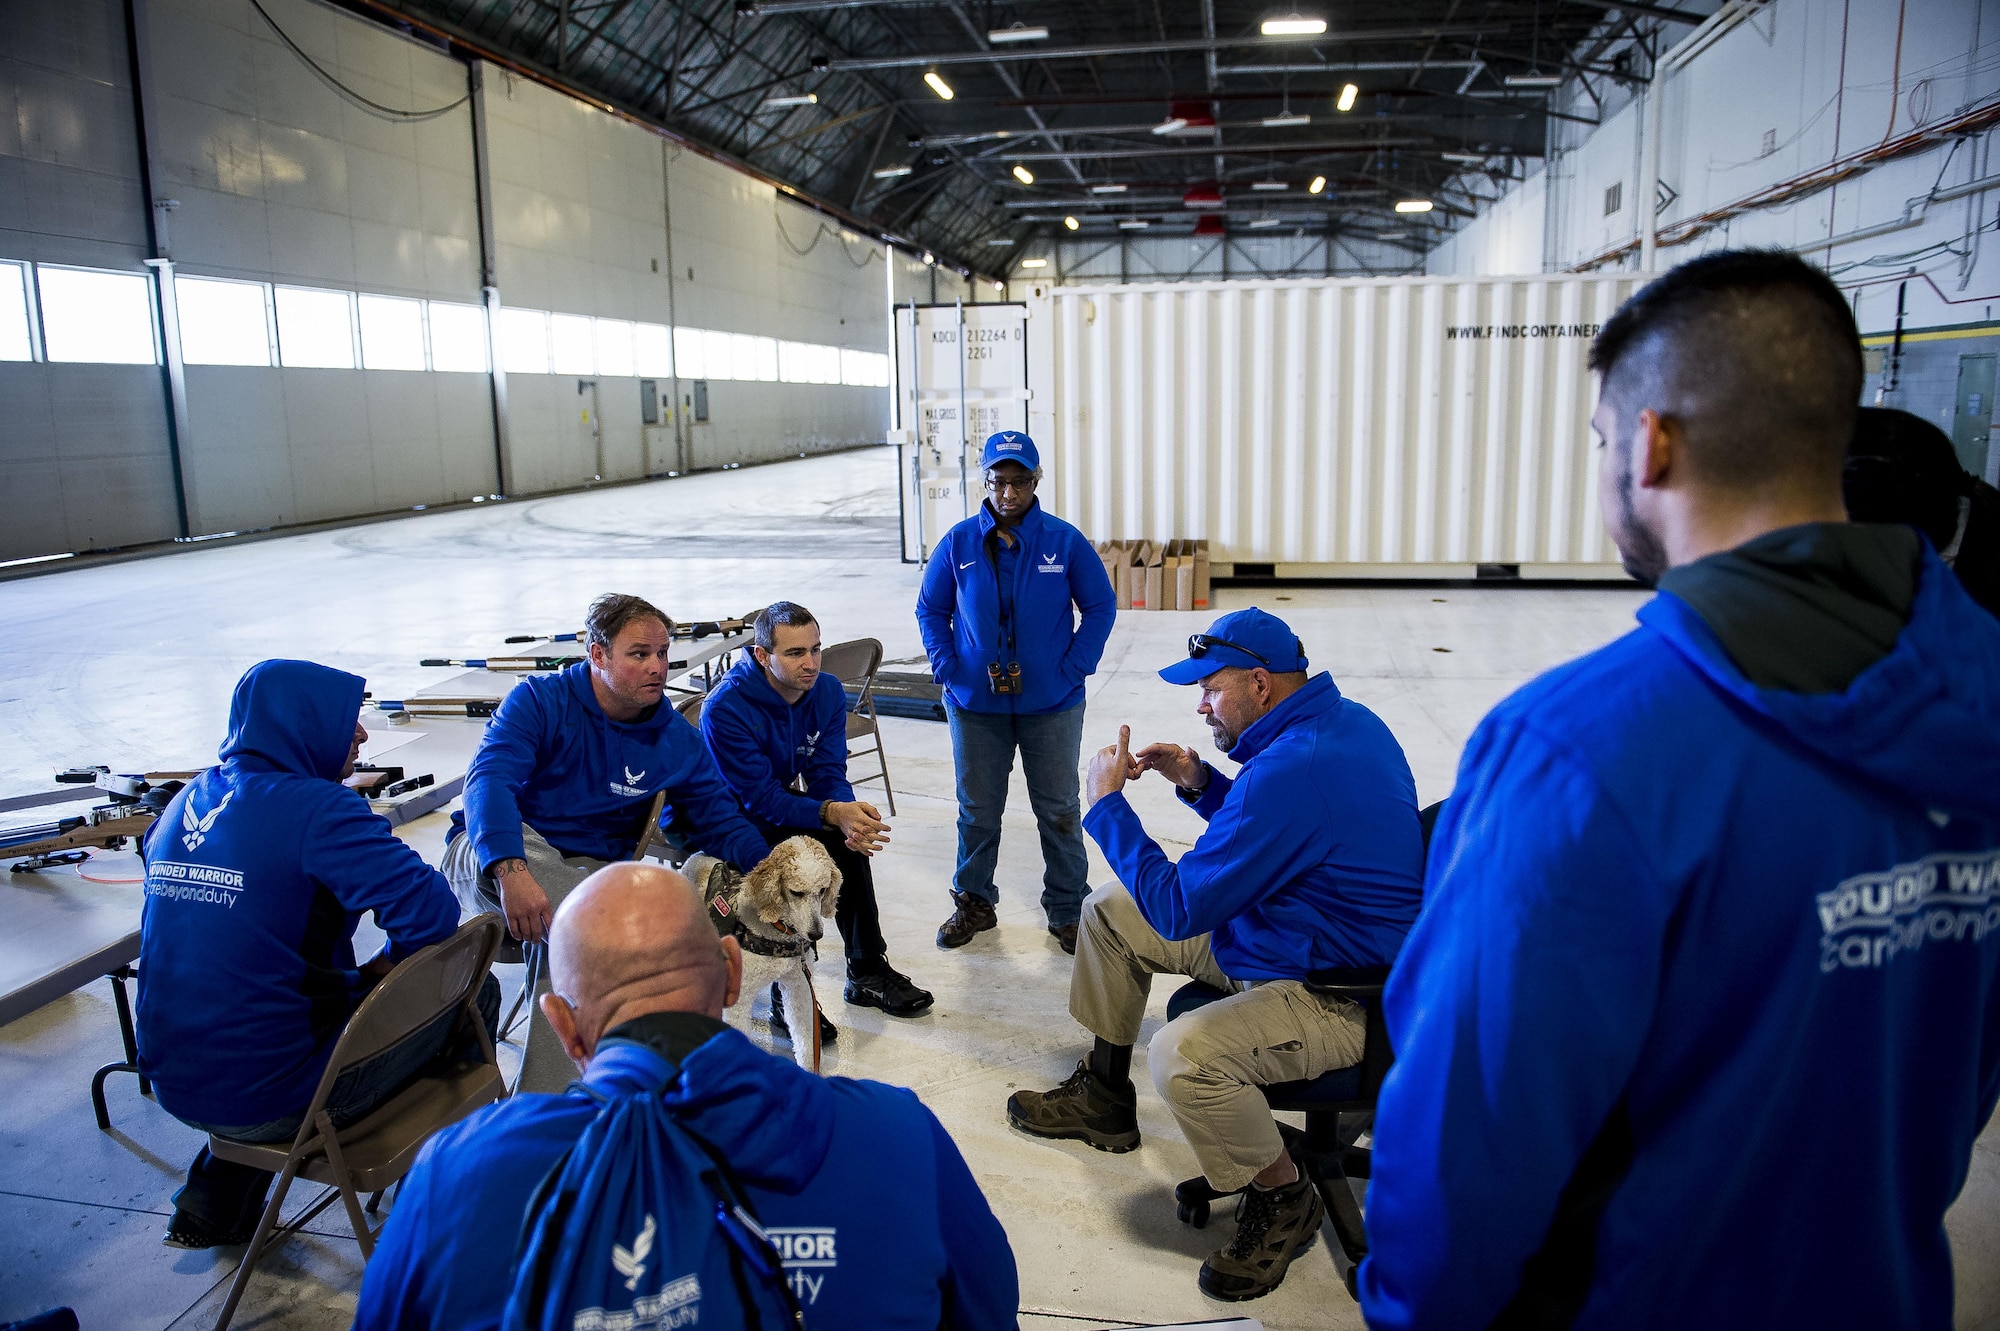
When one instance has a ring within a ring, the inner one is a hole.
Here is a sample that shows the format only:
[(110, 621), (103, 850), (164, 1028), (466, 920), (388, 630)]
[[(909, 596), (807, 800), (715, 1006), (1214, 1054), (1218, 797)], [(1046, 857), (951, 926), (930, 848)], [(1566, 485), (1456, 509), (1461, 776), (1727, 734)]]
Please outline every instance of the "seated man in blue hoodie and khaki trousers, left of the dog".
[[(502, 911), (508, 931), (530, 943), (592, 869), (632, 857), (658, 791), (660, 823), (684, 829), (692, 849), (738, 869), (770, 853), (700, 731), (662, 701), (674, 640), (666, 614), (608, 594), (590, 604), (584, 628), (588, 662), (522, 679), (494, 711), (444, 845), (444, 873), (466, 907)], [(544, 973), (536, 993), (546, 991)], [(518, 1089), (568, 1083), (548, 1025), (530, 1021)]]

